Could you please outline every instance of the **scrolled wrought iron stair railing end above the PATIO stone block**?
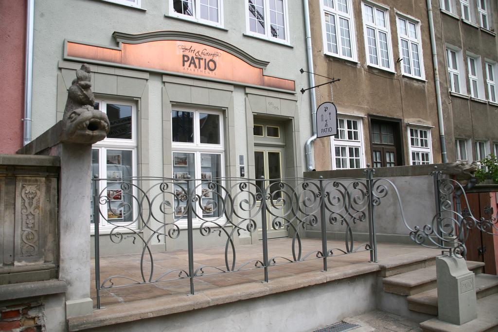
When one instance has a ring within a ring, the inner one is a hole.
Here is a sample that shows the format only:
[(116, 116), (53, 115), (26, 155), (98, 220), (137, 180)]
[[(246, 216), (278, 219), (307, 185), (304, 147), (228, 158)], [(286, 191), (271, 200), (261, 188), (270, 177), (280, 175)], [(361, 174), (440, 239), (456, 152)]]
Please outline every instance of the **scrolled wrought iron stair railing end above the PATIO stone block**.
[(436, 214), (431, 223), (423, 226), (409, 226), (402, 206), (400, 206), (402, 219), (410, 230), (410, 238), (415, 243), (429, 248), (442, 249), (450, 256), (465, 257), (467, 254), (465, 243), (469, 237), (469, 231), (479, 229), (482, 232), (495, 235), (498, 230), (498, 215), (494, 216), (493, 211), (488, 210), (485, 211), (487, 218), (476, 219), (469, 209), (462, 210), (461, 200), (469, 206), (465, 191), (466, 188), (475, 185), (475, 178), (471, 178), (464, 188), (460, 182), (443, 176), (441, 171), (432, 172), (432, 177)]

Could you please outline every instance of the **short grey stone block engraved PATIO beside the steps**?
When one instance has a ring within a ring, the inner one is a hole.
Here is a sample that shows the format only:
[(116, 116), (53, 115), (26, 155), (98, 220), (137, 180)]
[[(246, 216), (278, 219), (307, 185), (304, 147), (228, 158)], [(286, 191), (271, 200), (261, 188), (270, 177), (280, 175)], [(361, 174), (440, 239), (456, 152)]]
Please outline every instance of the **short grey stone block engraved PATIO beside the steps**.
[(465, 259), (436, 258), (438, 319), (462, 325), (477, 318), (476, 277)]

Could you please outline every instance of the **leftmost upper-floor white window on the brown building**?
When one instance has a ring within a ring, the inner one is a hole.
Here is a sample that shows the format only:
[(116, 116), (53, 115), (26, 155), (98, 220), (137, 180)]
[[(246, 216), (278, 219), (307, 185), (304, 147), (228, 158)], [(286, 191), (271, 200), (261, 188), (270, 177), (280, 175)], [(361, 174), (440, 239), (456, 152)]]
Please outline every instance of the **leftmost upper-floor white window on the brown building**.
[(325, 54), (356, 61), (351, 0), (322, 0), (321, 6)]

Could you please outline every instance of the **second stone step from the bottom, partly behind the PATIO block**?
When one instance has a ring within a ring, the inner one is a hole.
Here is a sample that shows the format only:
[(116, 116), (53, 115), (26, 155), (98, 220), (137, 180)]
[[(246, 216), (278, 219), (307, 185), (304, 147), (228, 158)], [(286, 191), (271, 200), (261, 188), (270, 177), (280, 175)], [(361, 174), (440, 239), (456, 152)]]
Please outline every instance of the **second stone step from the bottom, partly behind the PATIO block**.
[[(498, 293), (498, 276), (492, 274), (476, 275), (476, 296), (482, 299)], [(408, 309), (419, 313), (437, 316), (437, 289), (431, 289), (406, 298)]]

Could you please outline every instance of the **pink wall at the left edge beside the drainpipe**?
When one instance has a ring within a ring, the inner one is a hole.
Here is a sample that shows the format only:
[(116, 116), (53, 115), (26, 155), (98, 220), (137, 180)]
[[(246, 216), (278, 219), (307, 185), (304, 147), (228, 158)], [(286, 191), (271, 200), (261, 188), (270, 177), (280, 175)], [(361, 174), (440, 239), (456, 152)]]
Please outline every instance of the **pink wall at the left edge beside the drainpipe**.
[(0, 153), (22, 147), (26, 1), (0, 0)]

